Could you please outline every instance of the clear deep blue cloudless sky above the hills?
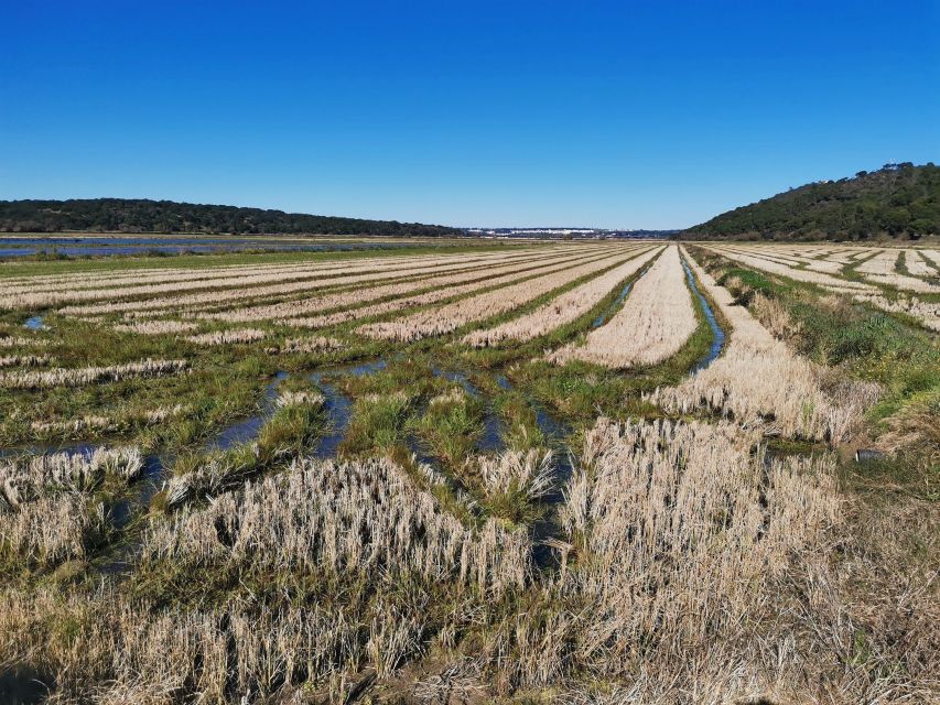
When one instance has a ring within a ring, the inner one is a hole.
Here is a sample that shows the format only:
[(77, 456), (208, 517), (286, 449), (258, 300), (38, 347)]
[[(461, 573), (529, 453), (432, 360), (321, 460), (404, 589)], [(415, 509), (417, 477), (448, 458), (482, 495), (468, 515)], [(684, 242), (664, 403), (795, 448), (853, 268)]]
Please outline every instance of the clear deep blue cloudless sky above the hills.
[(0, 0), (0, 198), (669, 228), (940, 161), (940, 0)]

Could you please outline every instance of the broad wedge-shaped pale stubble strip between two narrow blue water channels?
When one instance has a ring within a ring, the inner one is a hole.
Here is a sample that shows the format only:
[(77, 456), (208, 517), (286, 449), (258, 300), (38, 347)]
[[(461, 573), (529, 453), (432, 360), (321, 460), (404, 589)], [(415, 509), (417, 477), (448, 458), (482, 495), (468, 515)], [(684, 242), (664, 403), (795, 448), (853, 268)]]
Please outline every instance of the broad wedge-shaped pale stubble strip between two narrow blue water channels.
[(612, 368), (656, 365), (676, 355), (698, 325), (679, 249), (670, 246), (634, 285), (623, 310), (583, 344), (568, 345), (549, 359)]

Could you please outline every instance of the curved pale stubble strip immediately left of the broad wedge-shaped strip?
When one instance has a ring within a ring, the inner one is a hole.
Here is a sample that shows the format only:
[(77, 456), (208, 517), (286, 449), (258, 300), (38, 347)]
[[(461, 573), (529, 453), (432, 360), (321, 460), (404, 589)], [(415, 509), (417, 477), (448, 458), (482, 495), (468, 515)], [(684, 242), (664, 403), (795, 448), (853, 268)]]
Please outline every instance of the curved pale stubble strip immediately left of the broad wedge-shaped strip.
[(474, 347), (486, 347), (507, 338), (526, 341), (551, 333), (594, 308), (615, 286), (633, 276), (659, 252), (660, 249), (640, 250), (638, 257), (575, 286), (536, 311), (491, 328), (468, 333), (463, 341)]

